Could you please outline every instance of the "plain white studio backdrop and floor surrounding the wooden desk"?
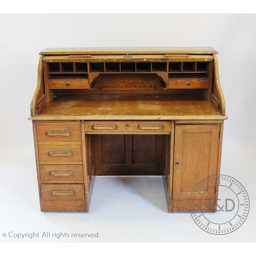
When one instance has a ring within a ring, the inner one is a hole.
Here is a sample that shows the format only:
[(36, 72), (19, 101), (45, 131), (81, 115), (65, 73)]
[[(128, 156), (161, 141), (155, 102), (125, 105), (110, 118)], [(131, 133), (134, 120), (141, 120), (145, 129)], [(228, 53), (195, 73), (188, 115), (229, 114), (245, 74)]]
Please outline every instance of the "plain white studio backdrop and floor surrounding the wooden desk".
[[(255, 31), (255, 14), (1, 14), (0, 241), (255, 242)], [(228, 116), (221, 173), (239, 180), (251, 203), (248, 219), (232, 234), (212, 236), (199, 229), (190, 214), (168, 214), (158, 179), (105, 182), (97, 177), (89, 214), (39, 210), (32, 122), (28, 120), (38, 53), (49, 47), (147, 46), (209, 46), (219, 52)], [(159, 190), (150, 196), (140, 189), (143, 186), (149, 193), (158, 186)], [(127, 196), (130, 190), (137, 196)], [(2, 233), (9, 231), (99, 232), (100, 238), (3, 238)]]

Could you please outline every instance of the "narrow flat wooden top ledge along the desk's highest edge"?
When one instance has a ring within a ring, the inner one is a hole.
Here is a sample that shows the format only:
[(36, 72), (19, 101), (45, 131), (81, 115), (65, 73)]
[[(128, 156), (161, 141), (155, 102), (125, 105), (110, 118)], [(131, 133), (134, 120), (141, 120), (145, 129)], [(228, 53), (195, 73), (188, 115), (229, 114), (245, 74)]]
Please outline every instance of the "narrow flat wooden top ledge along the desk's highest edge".
[(41, 55), (70, 54), (217, 54), (211, 47), (92, 47), (92, 48), (47, 48)]

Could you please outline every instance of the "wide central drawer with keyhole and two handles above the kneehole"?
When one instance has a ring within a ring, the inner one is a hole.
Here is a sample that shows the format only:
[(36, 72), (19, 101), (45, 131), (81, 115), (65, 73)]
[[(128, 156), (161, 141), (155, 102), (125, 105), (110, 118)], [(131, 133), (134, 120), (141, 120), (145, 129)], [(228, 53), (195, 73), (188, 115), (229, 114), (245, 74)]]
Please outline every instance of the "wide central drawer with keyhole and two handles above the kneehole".
[(158, 121), (86, 121), (87, 134), (169, 134), (170, 122)]

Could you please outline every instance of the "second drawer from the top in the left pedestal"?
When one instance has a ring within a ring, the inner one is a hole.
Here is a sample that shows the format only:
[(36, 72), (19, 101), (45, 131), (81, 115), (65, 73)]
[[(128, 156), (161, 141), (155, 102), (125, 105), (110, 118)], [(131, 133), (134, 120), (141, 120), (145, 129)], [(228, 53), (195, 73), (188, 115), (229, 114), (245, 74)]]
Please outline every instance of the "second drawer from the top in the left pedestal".
[[(81, 145), (38, 145), (39, 163), (65, 164), (64, 162), (81, 162)], [(77, 164), (77, 163), (76, 163)]]

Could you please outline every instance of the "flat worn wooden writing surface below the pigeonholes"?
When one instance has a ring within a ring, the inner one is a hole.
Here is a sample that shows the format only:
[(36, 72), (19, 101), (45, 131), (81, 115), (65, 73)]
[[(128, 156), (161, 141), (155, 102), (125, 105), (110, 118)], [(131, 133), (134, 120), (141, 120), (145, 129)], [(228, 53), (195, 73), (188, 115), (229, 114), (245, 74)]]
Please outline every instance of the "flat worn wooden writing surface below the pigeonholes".
[(65, 95), (32, 120), (223, 120), (203, 95)]

